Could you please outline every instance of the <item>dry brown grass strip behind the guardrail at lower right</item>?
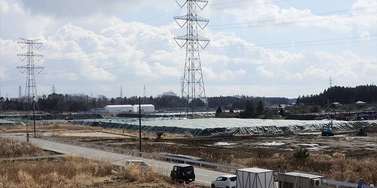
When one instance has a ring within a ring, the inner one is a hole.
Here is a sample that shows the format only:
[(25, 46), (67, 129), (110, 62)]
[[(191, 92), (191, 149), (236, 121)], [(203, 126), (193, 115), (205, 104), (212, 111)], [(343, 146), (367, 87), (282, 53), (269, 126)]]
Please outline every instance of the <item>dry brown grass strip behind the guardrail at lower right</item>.
[[(224, 161), (223, 161), (224, 162)], [(271, 157), (251, 157), (244, 159), (230, 158), (228, 162), (235, 166), (259, 167), (278, 172), (302, 171), (326, 175), (326, 179), (357, 183), (364, 178), (367, 184), (377, 183), (377, 156), (365, 158), (346, 157), (343, 153), (311, 153), (305, 161), (296, 160), (292, 154), (275, 153)]]

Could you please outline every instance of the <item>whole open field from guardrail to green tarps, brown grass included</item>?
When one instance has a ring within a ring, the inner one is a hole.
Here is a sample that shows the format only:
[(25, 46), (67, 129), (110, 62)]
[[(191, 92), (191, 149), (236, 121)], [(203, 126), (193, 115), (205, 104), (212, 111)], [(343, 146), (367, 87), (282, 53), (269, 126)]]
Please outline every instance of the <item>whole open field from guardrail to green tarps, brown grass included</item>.
[[(58, 125), (55, 129), (51, 128), (52, 126), (43, 125), (37, 130), (70, 140), (138, 150), (136, 131), (69, 124)], [(7, 131), (19, 132), (19, 129), (8, 128)], [(113, 135), (93, 137), (88, 135), (90, 132)], [(205, 161), (235, 166), (259, 167), (279, 172), (304, 171), (324, 174), (328, 179), (345, 182), (357, 183), (358, 179), (363, 177), (366, 183), (376, 185), (377, 177), (374, 175), (377, 174), (377, 127), (369, 127), (367, 137), (355, 134), (356, 130), (335, 132), (334, 137), (321, 137), (316, 133), (233, 138), (167, 135), (164, 139), (156, 141), (155, 133), (143, 133), (142, 147), (143, 151), (147, 152), (192, 155)], [(298, 161), (293, 157), (294, 151), (299, 148), (307, 148), (310, 152), (310, 157), (305, 161)]]

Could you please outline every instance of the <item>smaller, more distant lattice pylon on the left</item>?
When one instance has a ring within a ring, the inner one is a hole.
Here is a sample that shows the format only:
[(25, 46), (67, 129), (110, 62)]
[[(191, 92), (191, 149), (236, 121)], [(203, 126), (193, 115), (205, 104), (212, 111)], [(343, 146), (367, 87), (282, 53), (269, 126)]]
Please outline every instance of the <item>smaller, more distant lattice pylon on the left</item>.
[[(27, 59), (27, 64), (23, 66), (17, 66), (17, 69), (24, 73), (26, 72), (26, 86), (25, 86), (25, 111), (27, 114), (30, 114), (30, 110), (35, 109), (35, 104), (37, 101), (37, 88), (35, 85), (35, 72), (38, 74), (42, 72), (43, 67), (36, 66), (34, 64), (34, 59), (40, 61), (43, 57), (42, 54), (34, 53), (33, 47), (39, 49), (43, 43), (37, 40), (28, 40), (20, 38), (20, 41), (17, 42), (18, 46), (21, 48), (27, 47), (26, 53), (17, 53), (17, 56), (21, 61)], [(38, 107), (38, 105), (37, 105)]]

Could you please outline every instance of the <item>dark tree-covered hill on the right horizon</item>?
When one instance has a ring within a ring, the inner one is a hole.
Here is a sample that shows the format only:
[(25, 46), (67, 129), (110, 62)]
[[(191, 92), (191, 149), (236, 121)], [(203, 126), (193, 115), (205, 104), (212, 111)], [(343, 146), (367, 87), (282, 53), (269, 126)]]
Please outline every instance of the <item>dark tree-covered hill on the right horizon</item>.
[(315, 95), (299, 96), (296, 100), (298, 104), (320, 105), (324, 106), (329, 102), (339, 102), (342, 104), (350, 104), (359, 100), (367, 103), (377, 103), (377, 86), (364, 85), (352, 87), (335, 86), (323, 93)]

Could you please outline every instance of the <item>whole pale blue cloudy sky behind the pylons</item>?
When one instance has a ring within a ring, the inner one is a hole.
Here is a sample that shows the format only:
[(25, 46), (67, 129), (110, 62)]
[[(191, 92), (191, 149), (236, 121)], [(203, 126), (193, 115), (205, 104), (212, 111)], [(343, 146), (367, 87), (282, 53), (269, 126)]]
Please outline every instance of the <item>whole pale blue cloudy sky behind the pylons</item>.
[[(184, 0), (177, 0), (183, 4)], [(202, 5), (199, 3), (199, 5)], [(1, 95), (24, 94), (19, 38), (40, 39), (38, 94), (181, 94), (186, 35), (175, 0), (0, 0)], [(377, 0), (209, 0), (200, 36), (207, 96), (319, 94), (377, 83)]]

